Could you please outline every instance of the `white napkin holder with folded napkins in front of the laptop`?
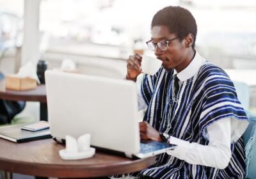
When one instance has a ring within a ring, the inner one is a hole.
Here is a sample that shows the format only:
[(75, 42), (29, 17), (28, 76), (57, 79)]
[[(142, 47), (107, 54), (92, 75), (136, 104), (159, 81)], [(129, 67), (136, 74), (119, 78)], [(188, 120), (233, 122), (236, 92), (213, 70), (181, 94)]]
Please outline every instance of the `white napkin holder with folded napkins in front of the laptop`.
[(61, 159), (78, 160), (93, 157), (95, 148), (90, 147), (90, 138), (90, 134), (84, 134), (78, 139), (66, 136), (66, 148), (59, 151)]

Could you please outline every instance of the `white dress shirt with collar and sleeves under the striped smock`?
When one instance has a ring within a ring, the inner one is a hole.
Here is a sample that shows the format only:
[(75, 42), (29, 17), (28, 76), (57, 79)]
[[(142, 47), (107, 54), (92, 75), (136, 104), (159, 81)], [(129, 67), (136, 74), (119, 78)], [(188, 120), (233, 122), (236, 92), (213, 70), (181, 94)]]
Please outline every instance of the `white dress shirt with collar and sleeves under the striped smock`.
[[(179, 78), (179, 85), (182, 81), (195, 75), (204, 63), (205, 59), (196, 52), (195, 58), (184, 70), (178, 74), (175, 71), (175, 74), (177, 74), (177, 77)], [(141, 95), (140, 84), (138, 84), (138, 99), (140, 109), (147, 107)], [(209, 144), (207, 146), (198, 143), (189, 143), (188, 141), (176, 137), (170, 137), (170, 143), (176, 144), (177, 147), (167, 153), (180, 160), (185, 160), (189, 164), (224, 169), (228, 166), (231, 158), (230, 144), (233, 141), (233, 139), (231, 139), (231, 125), (230, 118), (225, 118), (209, 125), (205, 131), (205, 135), (209, 139)]]

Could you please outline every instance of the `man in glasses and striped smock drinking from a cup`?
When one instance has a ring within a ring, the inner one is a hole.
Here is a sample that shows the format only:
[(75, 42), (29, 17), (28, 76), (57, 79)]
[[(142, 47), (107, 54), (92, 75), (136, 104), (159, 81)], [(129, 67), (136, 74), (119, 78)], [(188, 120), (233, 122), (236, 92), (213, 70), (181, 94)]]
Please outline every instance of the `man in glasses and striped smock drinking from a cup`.
[[(147, 111), (141, 139), (177, 144), (157, 156), (140, 178), (244, 178), (241, 138), (248, 118), (234, 84), (195, 50), (196, 22), (191, 13), (168, 6), (154, 15), (149, 49), (163, 61), (156, 75), (144, 75), (138, 96)], [(126, 79), (141, 74), (141, 58), (127, 59)]]

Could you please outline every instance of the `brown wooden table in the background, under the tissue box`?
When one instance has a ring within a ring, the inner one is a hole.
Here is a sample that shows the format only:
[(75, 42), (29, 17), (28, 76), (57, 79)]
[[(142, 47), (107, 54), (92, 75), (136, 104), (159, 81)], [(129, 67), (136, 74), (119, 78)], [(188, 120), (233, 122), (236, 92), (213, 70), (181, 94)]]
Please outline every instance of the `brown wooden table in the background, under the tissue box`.
[(38, 85), (35, 89), (28, 91), (15, 91), (10, 89), (6, 89), (5, 92), (0, 91), (0, 99), (40, 102), (40, 120), (48, 120), (47, 98), (44, 84)]

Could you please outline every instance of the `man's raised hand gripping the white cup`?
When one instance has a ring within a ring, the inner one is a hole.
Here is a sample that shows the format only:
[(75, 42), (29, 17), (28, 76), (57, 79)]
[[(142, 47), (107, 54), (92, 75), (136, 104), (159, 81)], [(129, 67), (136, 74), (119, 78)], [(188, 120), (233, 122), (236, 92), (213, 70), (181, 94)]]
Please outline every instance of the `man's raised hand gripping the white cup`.
[(139, 54), (134, 54), (129, 56), (127, 59), (127, 74), (126, 79), (136, 81), (138, 75), (141, 74), (141, 59), (142, 57)]

